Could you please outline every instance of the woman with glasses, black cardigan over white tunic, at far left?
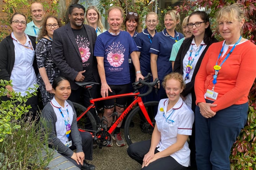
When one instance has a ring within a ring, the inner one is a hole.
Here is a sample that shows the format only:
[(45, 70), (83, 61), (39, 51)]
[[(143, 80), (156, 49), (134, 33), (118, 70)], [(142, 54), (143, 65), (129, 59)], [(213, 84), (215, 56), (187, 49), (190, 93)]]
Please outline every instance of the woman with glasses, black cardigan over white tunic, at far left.
[[(10, 20), (12, 32), (0, 43), (0, 79), (10, 81), (12, 85), (5, 88), (8, 91), (20, 92), (26, 96), (29, 87), (36, 84), (38, 68), (36, 65), (35, 48), (36, 37), (24, 33), (26, 29), (26, 16), (15, 13)], [(2, 96), (2, 100), (10, 100), (11, 95)], [(31, 105), (29, 111), (36, 117), (38, 96), (33, 96), (26, 102)]]

